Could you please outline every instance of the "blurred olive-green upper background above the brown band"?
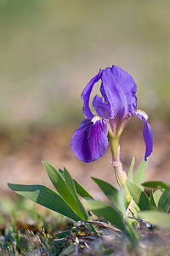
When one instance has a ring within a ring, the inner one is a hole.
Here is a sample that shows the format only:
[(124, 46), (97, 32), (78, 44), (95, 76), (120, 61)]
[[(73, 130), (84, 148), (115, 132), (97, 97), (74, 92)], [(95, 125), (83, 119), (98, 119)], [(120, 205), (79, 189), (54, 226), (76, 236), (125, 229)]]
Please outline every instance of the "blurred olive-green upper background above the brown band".
[(139, 108), (170, 113), (169, 0), (1, 0), (0, 130), (68, 125), (80, 95), (115, 64), (138, 84)]

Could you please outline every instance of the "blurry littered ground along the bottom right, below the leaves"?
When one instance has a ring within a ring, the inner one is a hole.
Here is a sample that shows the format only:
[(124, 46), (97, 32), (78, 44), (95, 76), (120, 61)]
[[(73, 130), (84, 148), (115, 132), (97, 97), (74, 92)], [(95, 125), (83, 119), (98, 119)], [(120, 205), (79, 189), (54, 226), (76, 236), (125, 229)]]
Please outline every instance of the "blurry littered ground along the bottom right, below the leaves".
[[(140, 238), (137, 244), (129, 242), (121, 232), (101, 228), (98, 224), (96, 225), (96, 230), (98, 230), (99, 236), (93, 234), (93, 232), (88, 232), (89, 228), (85, 231), (85, 228), (73, 233), (72, 236), (65, 237), (63, 240), (55, 239), (54, 241), (59, 245), (59, 242), (61, 244), (64, 240), (70, 240), (71, 246), (65, 250), (67, 252), (70, 250), (71, 254), (69, 255), (72, 256), (160, 256), (169, 255), (170, 253), (170, 231), (161, 230), (155, 226), (147, 228), (147, 223), (144, 222), (141, 225), (137, 224), (135, 228)], [(62, 255), (66, 255), (66, 252)]]

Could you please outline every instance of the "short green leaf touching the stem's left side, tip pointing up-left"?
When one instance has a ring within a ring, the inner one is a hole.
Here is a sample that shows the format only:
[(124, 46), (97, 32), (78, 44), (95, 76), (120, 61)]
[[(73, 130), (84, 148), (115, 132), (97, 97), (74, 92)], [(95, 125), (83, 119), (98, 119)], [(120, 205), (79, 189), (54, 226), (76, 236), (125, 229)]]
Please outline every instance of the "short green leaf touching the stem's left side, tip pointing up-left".
[(113, 187), (110, 183), (107, 183), (102, 179), (99, 179), (96, 177), (92, 177), (92, 179), (99, 186), (99, 188), (104, 192), (107, 198), (109, 198), (112, 204), (118, 207), (119, 206), (117, 202), (118, 190), (115, 187)]

